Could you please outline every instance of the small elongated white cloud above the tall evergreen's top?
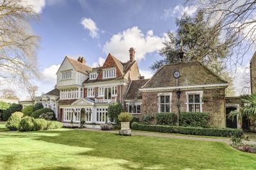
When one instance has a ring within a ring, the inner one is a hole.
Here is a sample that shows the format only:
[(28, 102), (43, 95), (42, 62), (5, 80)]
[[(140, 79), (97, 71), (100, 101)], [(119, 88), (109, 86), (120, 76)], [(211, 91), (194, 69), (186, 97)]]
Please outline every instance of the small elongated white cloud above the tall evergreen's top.
[(161, 17), (162, 20), (167, 20), (170, 17), (181, 17), (184, 13), (187, 13), (188, 15), (193, 15), (193, 13), (196, 12), (195, 6), (191, 7), (184, 7), (177, 5), (175, 8), (169, 8), (168, 10), (164, 10), (164, 14)]

